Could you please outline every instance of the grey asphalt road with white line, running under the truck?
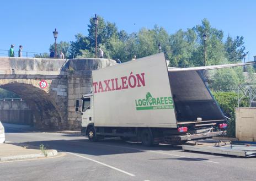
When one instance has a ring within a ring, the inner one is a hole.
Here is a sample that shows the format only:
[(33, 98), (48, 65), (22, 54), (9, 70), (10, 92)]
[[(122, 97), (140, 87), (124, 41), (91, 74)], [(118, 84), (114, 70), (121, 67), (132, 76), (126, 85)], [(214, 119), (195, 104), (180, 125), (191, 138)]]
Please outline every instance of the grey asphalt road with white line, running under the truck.
[(0, 163), (0, 180), (255, 180), (256, 158), (184, 152), (179, 146), (60, 133), (6, 129), (6, 140), (29, 142), (63, 152), (55, 158)]

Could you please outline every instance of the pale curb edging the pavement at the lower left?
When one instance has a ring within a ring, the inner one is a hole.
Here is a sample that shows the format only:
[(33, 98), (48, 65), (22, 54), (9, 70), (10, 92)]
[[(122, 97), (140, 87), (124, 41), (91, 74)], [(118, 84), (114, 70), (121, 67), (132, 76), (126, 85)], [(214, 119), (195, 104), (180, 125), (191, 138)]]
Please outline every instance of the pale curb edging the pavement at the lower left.
[(14, 160), (26, 160), (26, 159), (34, 159), (34, 158), (48, 158), (48, 157), (56, 156), (57, 154), (58, 154), (57, 150), (47, 150), (47, 156), (45, 156), (44, 153), (7, 156), (7, 157), (0, 157), (0, 162), (14, 161)]

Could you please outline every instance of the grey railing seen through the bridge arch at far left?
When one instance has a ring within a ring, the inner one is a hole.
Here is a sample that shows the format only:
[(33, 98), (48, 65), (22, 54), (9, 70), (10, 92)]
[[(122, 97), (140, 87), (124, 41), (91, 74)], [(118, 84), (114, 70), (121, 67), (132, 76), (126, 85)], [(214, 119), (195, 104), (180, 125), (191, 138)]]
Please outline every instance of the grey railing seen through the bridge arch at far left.
[(22, 98), (1, 98), (0, 109), (30, 109)]

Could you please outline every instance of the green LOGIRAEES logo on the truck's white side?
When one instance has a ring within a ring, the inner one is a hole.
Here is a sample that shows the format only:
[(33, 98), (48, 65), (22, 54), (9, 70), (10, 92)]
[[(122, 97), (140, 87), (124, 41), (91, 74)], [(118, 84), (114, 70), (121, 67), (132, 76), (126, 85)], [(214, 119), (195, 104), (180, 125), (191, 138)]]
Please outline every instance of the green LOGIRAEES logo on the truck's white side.
[(136, 110), (149, 109), (173, 109), (172, 97), (156, 97), (154, 98), (150, 92), (147, 92), (146, 98), (135, 100)]

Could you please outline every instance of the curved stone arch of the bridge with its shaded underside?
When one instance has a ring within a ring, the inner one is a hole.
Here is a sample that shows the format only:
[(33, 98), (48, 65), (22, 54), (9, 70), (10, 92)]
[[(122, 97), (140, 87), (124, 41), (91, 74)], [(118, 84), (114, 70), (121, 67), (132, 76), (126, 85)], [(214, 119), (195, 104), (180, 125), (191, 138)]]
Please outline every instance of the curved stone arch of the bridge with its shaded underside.
[[(4, 81), (4, 82), (3, 82)], [(40, 80), (0, 80), (0, 88), (12, 91), (26, 101), (34, 116), (34, 126), (40, 129), (57, 129), (65, 127), (65, 112), (59, 104), (65, 102), (54, 95), (50, 89), (40, 89)], [(51, 80), (48, 80), (50, 84)], [(56, 100), (58, 98), (58, 100)], [(65, 105), (64, 105), (65, 107)]]

